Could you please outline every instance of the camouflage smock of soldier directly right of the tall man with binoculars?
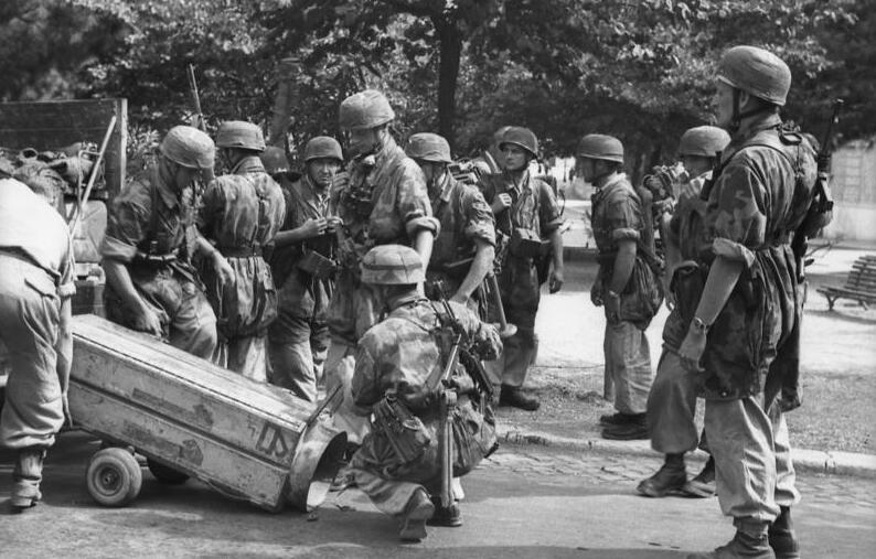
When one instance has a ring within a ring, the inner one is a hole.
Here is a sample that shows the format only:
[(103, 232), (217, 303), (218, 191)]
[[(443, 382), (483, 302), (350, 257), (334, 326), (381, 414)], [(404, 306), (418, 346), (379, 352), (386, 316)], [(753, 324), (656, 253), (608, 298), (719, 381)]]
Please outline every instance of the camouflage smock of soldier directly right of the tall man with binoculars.
[[(441, 224), (441, 233), (435, 239), (426, 279), (442, 281), (449, 298), (459, 289), (469, 269), (456, 270), (448, 265), (471, 258), (476, 240), (495, 247), (495, 228), (493, 213), (480, 191), (458, 182), (450, 173), (444, 176), (440, 192), (431, 202), (432, 215)], [(477, 311), (478, 298), (470, 301), (471, 309)]]

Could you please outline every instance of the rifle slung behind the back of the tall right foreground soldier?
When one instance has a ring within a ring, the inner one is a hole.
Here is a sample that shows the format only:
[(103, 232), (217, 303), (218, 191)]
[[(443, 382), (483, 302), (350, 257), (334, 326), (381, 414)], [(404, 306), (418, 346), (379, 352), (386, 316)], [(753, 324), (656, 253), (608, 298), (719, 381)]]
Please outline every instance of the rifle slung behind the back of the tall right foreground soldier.
[(819, 232), (833, 219), (833, 197), (831, 196), (830, 175), (827, 171), (831, 166), (831, 142), (833, 140), (834, 127), (840, 123), (840, 111), (843, 108), (843, 99), (833, 101), (833, 114), (824, 131), (819, 153), (816, 155), (818, 176), (813, 189), (812, 203), (806, 211), (803, 222), (794, 232), (791, 240), (791, 251), (797, 261), (797, 281), (805, 281), (805, 267), (813, 262), (812, 258), (806, 258), (809, 239), (816, 236)]

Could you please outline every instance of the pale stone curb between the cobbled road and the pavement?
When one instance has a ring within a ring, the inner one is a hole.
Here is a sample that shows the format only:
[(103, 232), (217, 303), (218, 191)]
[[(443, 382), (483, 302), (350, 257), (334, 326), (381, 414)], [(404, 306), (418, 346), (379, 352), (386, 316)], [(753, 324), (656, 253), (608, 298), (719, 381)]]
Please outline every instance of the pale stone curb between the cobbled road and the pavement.
[[(628, 456), (659, 458), (661, 454), (651, 449), (650, 441), (610, 441), (590, 433), (583, 439), (555, 437), (538, 431), (523, 431), (514, 427), (496, 427), (500, 442), (517, 445), (538, 445), (570, 449), (583, 452), (621, 454)], [(854, 452), (819, 451), (806, 449), (791, 450), (794, 470), (798, 472), (848, 475), (854, 477), (876, 479), (876, 455)], [(702, 450), (693, 452), (694, 456), (705, 460)]]

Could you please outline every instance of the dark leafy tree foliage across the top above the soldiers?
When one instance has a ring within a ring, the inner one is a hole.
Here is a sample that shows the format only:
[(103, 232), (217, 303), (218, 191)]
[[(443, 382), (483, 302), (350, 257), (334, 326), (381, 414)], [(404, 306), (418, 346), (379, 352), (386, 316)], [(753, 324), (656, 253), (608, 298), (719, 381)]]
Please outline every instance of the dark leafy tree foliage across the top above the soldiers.
[(789, 63), (786, 115), (804, 129), (820, 133), (842, 96), (841, 131), (873, 133), (874, 13), (876, 0), (12, 0), (0, 92), (125, 96), (133, 120), (165, 128), (191, 112), (194, 64), (213, 126), (267, 121), (279, 61), (295, 57), (297, 142), (339, 133), (340, 101), (377, 87), (399, 135), (440, 131), (460, 154), (515, 123), (547, 154), (600, 131), (650, 164), (708, 120), (715, 62), (734, 44)]

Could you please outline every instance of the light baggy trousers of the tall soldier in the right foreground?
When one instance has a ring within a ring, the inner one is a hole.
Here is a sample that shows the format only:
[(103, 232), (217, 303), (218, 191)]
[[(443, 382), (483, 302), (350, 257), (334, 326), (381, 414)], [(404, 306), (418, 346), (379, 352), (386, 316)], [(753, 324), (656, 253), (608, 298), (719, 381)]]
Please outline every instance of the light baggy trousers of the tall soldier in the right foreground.
[(800, 501), (779, 406), (765, 410), (762, 395), (706, 400), (705, 427), (715, 456), (718, 503), (737, 527), (751, 520), (771, 523), (779, 507)]

